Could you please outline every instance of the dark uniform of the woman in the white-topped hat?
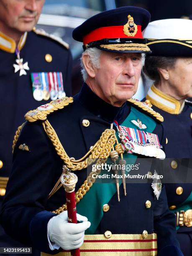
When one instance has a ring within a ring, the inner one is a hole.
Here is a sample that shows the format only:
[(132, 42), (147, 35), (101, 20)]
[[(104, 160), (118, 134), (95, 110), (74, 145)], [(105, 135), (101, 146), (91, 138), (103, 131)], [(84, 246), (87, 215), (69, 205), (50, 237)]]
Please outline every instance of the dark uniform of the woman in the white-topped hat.
[[(153, 88), (154, 86), (151, 90)], [(158, 95), (161, 97), (158, 97), (158, 101), (149, 95), (150, 92), (146, 98), (150, 100), (152, 108), (164, 117), (166, 169), (172, 174), (172, 181), (175, 180), (174, 183), (165, 184), (166, 194), (169, 209), (176, 212), (177, 238), (184, 255), (187, 256), (192, 253), (192, 226), (187, 227), (184, 221), (179, 225), (178, 215), (181, 210), (186, 212), (192, 209), (192, 183), (182, 183), (182, 181), (187, 182), (187, 171), (191, 170), (189, 159), (192, 158), (192, 103), (186, 101), (180, 113), (169, 113), (165, 105), (162, 106), (164, 110), (156, 107), (160, 102), (163, 104), (164, 94), (162, 92)], [(176, 105), (179, 104), (175, 99), (174, 102)]]

